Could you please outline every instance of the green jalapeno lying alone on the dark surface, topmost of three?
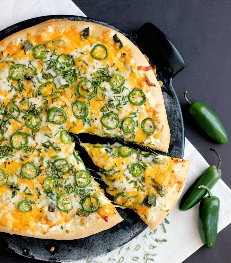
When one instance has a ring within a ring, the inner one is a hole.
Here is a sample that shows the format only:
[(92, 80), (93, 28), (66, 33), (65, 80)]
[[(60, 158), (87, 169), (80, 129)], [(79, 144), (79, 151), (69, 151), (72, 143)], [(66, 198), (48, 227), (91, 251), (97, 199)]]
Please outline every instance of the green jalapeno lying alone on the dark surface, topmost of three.
[(186, 97), (187, 93), (188, 91), (185, 91), (185, 100), (190, 105), (189, 113), (193, 119), (213, 140), (221, 144), (226, 143), (228, 136), (217, 115), (201, 102), (191, 103)]

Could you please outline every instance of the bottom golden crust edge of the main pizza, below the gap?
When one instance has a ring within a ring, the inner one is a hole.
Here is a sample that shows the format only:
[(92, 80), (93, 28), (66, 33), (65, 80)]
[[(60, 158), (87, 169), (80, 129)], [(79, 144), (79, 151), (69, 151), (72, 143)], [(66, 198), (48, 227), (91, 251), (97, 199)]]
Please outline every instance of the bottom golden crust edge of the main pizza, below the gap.
[[(46, 234), (39, 234), (36, 236), (26, 231), (20, 233), (14, 232), (11, 230), (11, 228), (4, 226), (0, 226), (0, 232), (9, 233), (11, 235), (17, 234), (20, 236), (28, 236), (28, 237), (36, 237), (36, 238), (71, 240), (71, 239), (83, 238), (86, 236), (99, 233), (103, 230), (107, 230), (123, 220), (117, 211), (115, 215), (113, 215), (112, 217), (108, 217), (108, 221), (105, 221), (104, 219), (100, 218), (99, 216), (97, 216), (96, 213), (95, 215), (96, 218), (92, 218), (90, 222), (87, 222), (86, 217), (80, 217), (79, 220), (83, 221), (83, 226), (76, 226), (77, 224), (74, 223), (74, 219), (73, 219), (71, 222), (72, 224), (70, 223), (70, 226), (63, 227), (63, 229), (61, 229), (61, 227), (57, 227), (57, 230), (53, 230)], [(84, 220), (86, 221), (86, 224)]]

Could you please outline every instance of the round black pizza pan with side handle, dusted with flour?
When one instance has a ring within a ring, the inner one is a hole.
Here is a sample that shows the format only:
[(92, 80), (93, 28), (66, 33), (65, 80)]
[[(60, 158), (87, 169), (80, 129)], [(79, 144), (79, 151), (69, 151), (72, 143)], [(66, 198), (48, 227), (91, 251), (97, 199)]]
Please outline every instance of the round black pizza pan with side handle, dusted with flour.
[[(0, 40), (17, 31), (52, 18), (94, 22), (121, 32), (107, 23), (91, 18), (54, 15), (32, 18), (12, 25), (0, 32)], [(163, 82), (162, 93), (171, 130), (171, 142), (168, 155), (182, 158), (184, 152), (184, 127), (179, 102), (172, 87), (172, 78), (184, 68), (184, 61), (169, 39), (151, 23), (145, 23), (133, 35), (123, 34), (137, 45), (141, 52), (149, 57), (150, 64), (157, 66), (157, 79)], [(79, 138), (83, 142), (91, 143), (107, 143), (110, 141), (106, 138), (98, 138), (85, 134), (81, 134)], [(89, 164), (88, 168), (97, 171), (97, 168), (93, 165), (85, 151), (80, 149), (78, 143), (76, 147), (77, 150), (81, 152), (80, 155), (85, 160), (85, 164)], [(105, 187), (103, 184), (101, 184), (101, 186)], [(122, 210), (118, 208), (118, 212), (124, 218), (124, 221), (109, 230), (86, 238), (56, 241), (0, 233), (0, 248), (13, 250), (26, 257), (53, 262), (74, 261), (96, 257), (122, 246), (146, 228), (146, 224), (132, 210)], [(50, 251), (51, 247), (55, 248), (53, 252)]]

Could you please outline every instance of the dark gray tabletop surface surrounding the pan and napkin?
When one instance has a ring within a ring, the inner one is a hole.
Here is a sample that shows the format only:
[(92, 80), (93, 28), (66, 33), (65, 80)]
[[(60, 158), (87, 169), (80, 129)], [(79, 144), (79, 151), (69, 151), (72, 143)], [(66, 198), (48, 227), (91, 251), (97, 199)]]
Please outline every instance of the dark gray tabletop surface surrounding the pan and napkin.
[[(135, 33), (145, 22), (152, 22), (178, 48), (185, 69), (173, 79), (185, 123), (185, 136), (209, 164), (217, 165), (216, 149), (222, 158), (223, 181), (231, 187), (231, 139), (224, 145), (214, 143), (187, 114), (184, 91), (190, 101), (201, 101), (221, 119), (228, 137), (230, 129), (230, 0), (73, 0), (90, 18), (107, 22), (126, 32)], [(231, 224), (217, 236), (213, 249), (200, 248), (184, 263), (228, 263), (231, 258)], [(0, 262), (37, 263), (9, 251), (0, 252)], [(107, 263), (107, 262), (103, 262)], [(130, 262), (129, 262), (130, 263)], [(141, 263), (141, 262), (140, 262)]]

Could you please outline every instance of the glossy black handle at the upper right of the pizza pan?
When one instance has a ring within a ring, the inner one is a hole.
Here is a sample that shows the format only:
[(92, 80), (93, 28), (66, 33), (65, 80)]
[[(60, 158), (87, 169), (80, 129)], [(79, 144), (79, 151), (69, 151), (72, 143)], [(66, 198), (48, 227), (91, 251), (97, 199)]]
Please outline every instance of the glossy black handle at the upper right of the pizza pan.
[(185, 67), (185, 62), (172, 42), (152, 23), (145, 23), (134, 35), (136, 44), (154, 65), (166, 70), (172, 78)]

